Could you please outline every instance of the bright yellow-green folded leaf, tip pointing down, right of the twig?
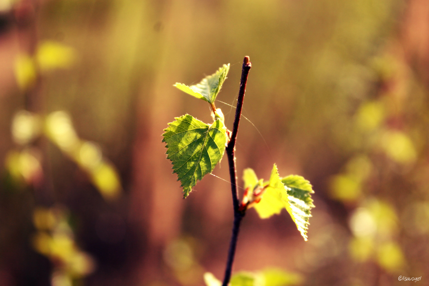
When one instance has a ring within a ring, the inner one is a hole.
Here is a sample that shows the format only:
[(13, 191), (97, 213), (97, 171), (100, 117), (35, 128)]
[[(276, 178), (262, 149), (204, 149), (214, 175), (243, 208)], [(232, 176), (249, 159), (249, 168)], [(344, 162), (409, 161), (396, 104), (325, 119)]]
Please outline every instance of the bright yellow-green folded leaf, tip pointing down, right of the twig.
[(286, 208), (302, 237), (307, 241), (308, 220), (311, 217), (311, 208), (314, 207), (311, 193), (314, 191), (310, 183), (302, 176), (290, 175), (281, 179), (274, 164), (266, 192), (262, 195), (261, 201), (255, 205), (255, 210), (261, 219), (266, 219)]

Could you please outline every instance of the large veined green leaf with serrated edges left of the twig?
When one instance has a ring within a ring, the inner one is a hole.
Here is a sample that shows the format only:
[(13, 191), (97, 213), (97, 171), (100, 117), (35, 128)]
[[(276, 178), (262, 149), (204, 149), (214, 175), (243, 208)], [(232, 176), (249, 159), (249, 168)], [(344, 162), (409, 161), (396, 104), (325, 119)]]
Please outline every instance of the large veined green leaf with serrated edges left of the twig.
[(186, 198), (203, 176), (211, 173), (221, 161), (227, 144), (227, 128), (221, 120), (208, 125), (189, 114), (176, 117), (164, 129), (167, 159), (173, 164), (173, 173), (183, 187)]

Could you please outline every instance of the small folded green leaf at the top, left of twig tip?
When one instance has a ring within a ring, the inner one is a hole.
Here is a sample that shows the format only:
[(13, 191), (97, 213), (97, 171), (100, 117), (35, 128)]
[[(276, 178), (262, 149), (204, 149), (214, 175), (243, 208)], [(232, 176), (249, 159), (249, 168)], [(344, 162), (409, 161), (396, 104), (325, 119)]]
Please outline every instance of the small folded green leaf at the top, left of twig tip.
[(225, 79), (227, 79), (229, 70), (230, 64), (224, 64), (216, 73), (213, 73), (211, 76), (206, 76), (196, 85), (188, 86), (176, 82), (173, 86), (196, 98), (205, 100), (208, 103), (214, 103), (216, 96), (218, 96), (219, 91), (221, 91)]

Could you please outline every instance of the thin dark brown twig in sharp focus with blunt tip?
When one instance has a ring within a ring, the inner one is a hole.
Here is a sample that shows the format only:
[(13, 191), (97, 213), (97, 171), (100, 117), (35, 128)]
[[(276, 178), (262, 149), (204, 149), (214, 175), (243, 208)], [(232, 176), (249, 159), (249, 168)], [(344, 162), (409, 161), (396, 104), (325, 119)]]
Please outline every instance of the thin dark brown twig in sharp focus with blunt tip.
[(230, 168), (230, 180), (231, 180), (231, 192), (233, 195), (233, 206), (234, 206), (234, 224), (233, 234), (231, 236), (230, 249), (228, 251), (227, 267), (225, 269), (225, 277), (222, 286), (227, 286), (230, 283), (231, 271), (233, 268), (234, 255), (236, 253), (237, 238), (240, 230), (240, 223), (245, 215), (245, 211), (239, 211), (239, 197), (237, 193), (237, 172), (236, 172), (236, 139), (237, 132), (239, 129), (240, 117), (243, 107), (244, 94), (246, 91), (246, 82), (249, 74), (249, 70), (252, 67), (249, 57), (245, 56), (242, 67), (242, 77), (240, 81), (239, 98), (237, 102), (236, 118), (234, 119), (233, 131), (231, 133), (231, 139), (226, 148), (228, 165)]

